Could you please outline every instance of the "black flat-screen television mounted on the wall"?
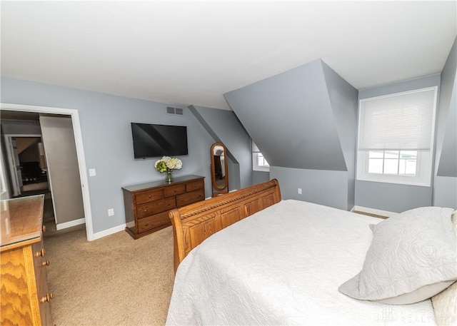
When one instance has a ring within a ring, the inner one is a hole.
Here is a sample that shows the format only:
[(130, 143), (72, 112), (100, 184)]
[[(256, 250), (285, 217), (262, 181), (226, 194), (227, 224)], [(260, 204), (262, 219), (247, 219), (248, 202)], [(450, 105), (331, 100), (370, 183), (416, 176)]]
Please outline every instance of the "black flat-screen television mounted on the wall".
[(187, 127), (131, 123), (135, 158), (187, 155)]

